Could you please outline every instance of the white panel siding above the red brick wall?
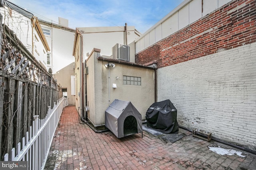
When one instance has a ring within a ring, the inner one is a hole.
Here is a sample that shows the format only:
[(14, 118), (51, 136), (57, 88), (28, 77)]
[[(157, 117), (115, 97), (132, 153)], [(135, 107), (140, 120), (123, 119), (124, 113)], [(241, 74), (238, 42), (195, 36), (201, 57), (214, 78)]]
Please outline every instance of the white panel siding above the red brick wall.
[[(158, 21), (158, 23), (135, 41), (135, 44), (140, 44), (135, 45), (136, 53), (199, 20), (201, 17), (206, 16), (230, 1), (231, 0), (203, 0), (202, 3), (202, 0), (185, 0), (180, 6), (174, 9), (174, 11)], [(141, 41), (142, 39), (143, 41)]]

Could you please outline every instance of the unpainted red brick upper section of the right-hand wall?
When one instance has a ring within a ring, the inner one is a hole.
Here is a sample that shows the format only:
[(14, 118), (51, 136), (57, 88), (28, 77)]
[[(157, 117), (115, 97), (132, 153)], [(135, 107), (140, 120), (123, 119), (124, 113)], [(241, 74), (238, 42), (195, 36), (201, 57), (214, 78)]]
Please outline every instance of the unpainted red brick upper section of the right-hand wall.
[(140, 51), (135, 63), (169, 66), (256, 42), (256, 1), (234, 0)]

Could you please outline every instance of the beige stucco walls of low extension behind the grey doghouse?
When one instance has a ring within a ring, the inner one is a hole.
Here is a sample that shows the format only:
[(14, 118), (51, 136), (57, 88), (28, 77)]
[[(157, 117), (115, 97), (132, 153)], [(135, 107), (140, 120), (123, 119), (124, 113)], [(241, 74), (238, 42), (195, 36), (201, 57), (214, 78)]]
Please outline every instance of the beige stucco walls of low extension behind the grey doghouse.
[[(88, 118), (94, 125), (105, 123), (105, 110), (109, 106), (108, 69), (110, 69), (110, 104), (115, 100), (130, 101), (145, 119), (148, 107), (155, 101), (155, 70), (152, 68), (98, 60), (100, 52), (94, 51), (87, 59), (87, 99), (90, 108)], [(124, 85), (123, 76), (141, 77), (141, 86)], [(112, 88), (116, 84), (117, 88)]]

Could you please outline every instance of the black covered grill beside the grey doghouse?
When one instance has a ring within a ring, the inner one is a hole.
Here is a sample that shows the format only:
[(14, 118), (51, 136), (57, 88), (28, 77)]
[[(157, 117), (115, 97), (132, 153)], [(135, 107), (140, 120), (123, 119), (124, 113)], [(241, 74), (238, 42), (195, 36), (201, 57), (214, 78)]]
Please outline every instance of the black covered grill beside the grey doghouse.
[(178, 133), (177, 109), (170, 100), (152, 104), (146, 112), (147, 126), (162, 133)]

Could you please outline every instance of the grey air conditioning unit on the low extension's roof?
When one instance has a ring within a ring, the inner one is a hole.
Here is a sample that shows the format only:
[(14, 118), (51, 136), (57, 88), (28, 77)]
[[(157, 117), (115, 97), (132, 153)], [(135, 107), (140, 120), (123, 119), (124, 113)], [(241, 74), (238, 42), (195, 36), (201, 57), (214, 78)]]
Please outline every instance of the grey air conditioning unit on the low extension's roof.
[(130, 61), (130, 47), (128, 45), (116, 44), (112, 47), (113, 59)]

